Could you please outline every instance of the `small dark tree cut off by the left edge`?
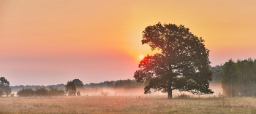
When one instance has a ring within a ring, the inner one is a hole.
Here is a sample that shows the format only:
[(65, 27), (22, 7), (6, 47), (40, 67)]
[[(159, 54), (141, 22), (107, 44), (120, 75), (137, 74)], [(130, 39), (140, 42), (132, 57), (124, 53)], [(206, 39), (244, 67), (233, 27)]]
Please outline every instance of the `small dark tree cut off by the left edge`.
[(0, 78), (0, 90), (4, 92), (7, 97), (12, 93), (12, 89), (10, 88), (10, 83), (6, 78)]

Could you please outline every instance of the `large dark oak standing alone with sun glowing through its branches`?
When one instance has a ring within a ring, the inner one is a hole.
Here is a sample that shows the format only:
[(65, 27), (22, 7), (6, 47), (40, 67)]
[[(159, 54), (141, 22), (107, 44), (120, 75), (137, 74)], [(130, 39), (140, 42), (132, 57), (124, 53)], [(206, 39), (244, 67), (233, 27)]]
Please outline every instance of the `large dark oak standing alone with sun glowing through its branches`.
[(144, 57), (134, 74), (138, 82), (149, 81), (145, 94), (156, 89), (167, 92), (168, 99), (172, 99), (174, 89), (193, 94), (214, 93), (208, 89), (212, 72), (208, 67), (209, 50), (203, 42), (184, 25), (157, 23), (146, 27), (142, 44), (161, 53)]

